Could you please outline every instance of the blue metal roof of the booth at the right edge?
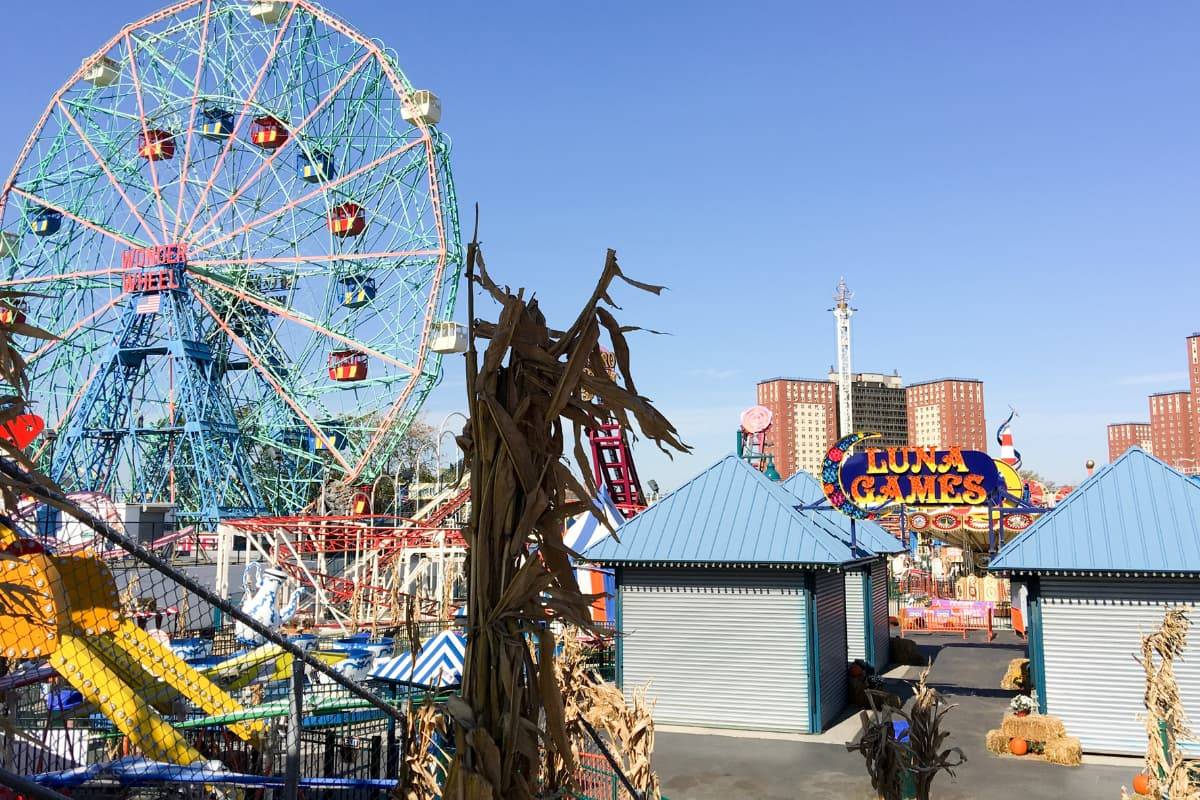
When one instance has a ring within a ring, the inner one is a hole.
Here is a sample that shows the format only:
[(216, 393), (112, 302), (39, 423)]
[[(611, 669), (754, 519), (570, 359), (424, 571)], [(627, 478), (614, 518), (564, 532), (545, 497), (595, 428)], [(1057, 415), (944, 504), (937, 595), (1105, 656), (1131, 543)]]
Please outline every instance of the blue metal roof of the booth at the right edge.
[(1200, 572), (1200, 485), (1130, 447), (1001, 548), (989, 569)]

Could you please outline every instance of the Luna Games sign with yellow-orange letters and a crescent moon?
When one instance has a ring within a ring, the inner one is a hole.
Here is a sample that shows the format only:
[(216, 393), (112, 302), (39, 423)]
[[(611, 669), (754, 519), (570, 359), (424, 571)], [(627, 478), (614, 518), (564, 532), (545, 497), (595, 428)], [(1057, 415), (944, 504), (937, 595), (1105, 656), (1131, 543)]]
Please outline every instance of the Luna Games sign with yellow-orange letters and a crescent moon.
[(854, 444), (877, 435), (846, 437), (826, 453), (826, 498), (853, 517), (870, 518), (900, 505), (984, 505), (1004, 487), (995, 459), (977, 450), (865, 447), (850, 455)]

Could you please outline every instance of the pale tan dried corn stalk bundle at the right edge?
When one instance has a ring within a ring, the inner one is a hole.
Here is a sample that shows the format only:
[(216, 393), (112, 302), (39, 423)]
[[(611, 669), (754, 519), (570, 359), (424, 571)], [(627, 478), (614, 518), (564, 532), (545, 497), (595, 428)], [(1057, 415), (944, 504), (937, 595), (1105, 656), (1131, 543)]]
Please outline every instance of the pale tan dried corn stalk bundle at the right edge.
[[(1146, 775), (1150, 794), (1171, 800), (1200, 800), (1200, 786), (1190, 780), (1188, 763), (1180, 752), (1178, 741), (1193, 740), (1188, 728), (1180, 685), (1175, 678), (1175, 660), (1183, 655), (1192, 622), (1183, 608), (1172, 608), (1163, 625), (1141, 637), (1141, 657), (1146, 670)], [(1122, 789), (1122, 796), (1129, 795)]]

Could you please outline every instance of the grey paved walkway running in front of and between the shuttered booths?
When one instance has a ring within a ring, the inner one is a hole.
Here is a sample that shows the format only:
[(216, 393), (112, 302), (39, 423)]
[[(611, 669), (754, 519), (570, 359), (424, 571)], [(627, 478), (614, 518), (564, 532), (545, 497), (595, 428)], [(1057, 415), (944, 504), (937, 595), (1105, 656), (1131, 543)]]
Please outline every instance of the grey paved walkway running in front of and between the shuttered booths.
[[(991, 756), (984, 733), (1000, 724), (1013, 696), (1000, 688), (1000, 679), (1008, 660), (1024, 655), (1024, 645), (1010, 633), (991, 644), (950, 636), (918, 643), (934, 658), (930, 682), (959, 705), (946, 718), (948, 746), (967, 756), (956, 777), (934, 782), (938, 800), (1116, 800), (1122, 783), (1129, 786), (1139, 771), (1135, 759), (1067, 768)], [(833, 741), (828, 734), (780, 740), (667, 729), (655, 736), (654, 765), (670, 800), (874, 800), (862, 757), (838, 741), (857, 732), (853, 718), (838, 726), (844, 735)]]

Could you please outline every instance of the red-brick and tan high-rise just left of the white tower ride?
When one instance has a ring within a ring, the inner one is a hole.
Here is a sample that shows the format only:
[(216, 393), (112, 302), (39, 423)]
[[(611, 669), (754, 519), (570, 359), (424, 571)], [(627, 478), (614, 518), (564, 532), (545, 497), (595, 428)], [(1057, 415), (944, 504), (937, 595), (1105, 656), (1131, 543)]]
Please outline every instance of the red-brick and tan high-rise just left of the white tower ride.
[(770, 409), (767, 453), (784, 477), (799, 470), (821, 474), (829, 445), (838, 439), (838, 384), (803, 378), (758, 383), (758, 404)]

